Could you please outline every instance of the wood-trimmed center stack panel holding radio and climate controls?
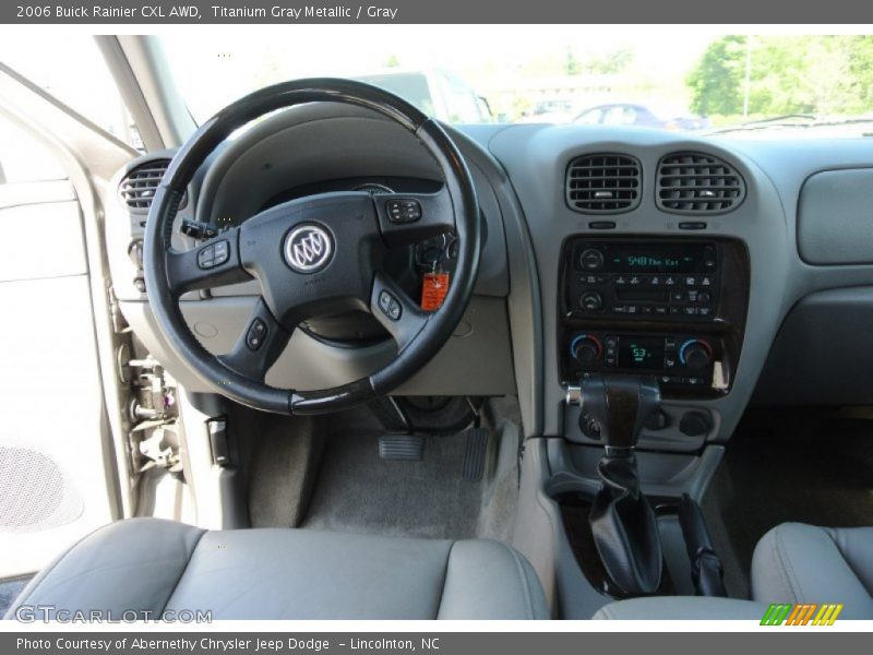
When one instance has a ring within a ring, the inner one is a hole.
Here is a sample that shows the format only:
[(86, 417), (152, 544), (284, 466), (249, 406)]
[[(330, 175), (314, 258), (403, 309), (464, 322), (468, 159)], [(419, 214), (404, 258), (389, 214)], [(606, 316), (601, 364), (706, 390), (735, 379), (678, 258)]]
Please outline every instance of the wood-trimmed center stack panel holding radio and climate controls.
[(667, 397), (730, 391), (749, 255), (730, 239), (569, 238), (561, 254), (560, 371), (656, 376)]

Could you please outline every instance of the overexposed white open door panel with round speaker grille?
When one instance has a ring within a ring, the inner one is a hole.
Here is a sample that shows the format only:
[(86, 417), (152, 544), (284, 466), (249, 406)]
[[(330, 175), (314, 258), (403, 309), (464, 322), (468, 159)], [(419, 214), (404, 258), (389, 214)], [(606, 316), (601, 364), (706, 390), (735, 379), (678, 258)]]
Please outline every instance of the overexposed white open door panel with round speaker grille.
[[(0, 126), (0, 133), (12, 128)], [(0, 140), (0, 162), (33, 154)], [(35, 167), (33, 157), (29, 167)], [(0, 577), (112, 517), (82, 214), (67, 180), (0, 184)]]

